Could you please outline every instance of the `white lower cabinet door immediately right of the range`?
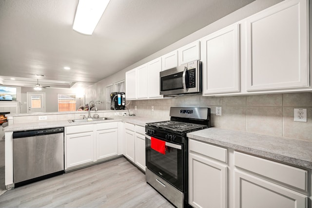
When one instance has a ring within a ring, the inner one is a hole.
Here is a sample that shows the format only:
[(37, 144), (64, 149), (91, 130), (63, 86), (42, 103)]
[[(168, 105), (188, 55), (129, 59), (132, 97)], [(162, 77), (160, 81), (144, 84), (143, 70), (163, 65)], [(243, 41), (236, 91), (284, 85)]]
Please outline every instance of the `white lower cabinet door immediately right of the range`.
[(226, 165), (189, 153), (189, 204), (195, 208), (227, 207)]

